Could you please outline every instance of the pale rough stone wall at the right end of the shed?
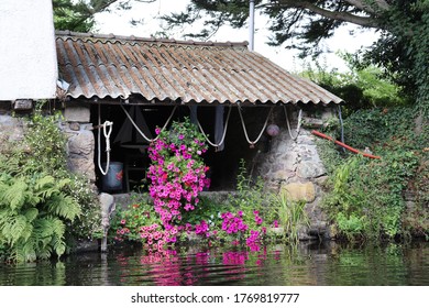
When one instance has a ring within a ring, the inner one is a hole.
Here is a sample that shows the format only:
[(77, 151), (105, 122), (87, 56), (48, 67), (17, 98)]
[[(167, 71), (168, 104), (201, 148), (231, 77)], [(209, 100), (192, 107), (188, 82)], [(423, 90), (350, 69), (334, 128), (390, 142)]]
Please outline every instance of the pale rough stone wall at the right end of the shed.
[(272, 139), (270, 151), (258, 157), (257, 175), (264, 179), (267, 189), (286, 194), (290, 201), (306, 202), (310, 228), (305, 233), (309, 238), (311, 234), (329, 237), (328, 220), (320, 209), (322, 185), (328, 177), (317, 151), (316, 136), (310, 131), (333, 117), (329, 109), (323, 110), (318, 118), (302, 111), (302, 124), (297, 135), (295, 129), (298, 117), (294, 112), (290, 128), (292, 135), (297, 138), (294, 140), (287, 125), (282, 125), (279, 134)]

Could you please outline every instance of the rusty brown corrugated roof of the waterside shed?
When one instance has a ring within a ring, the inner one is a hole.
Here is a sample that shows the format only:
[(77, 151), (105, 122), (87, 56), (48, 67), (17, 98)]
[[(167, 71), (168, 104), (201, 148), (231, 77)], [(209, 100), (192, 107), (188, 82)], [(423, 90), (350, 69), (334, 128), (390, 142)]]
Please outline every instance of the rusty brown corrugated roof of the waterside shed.
[(212, 43), (57, 32), (62, 78), (73, 98), (235, 103), (342, 100), (293, 76), (246, 42)]

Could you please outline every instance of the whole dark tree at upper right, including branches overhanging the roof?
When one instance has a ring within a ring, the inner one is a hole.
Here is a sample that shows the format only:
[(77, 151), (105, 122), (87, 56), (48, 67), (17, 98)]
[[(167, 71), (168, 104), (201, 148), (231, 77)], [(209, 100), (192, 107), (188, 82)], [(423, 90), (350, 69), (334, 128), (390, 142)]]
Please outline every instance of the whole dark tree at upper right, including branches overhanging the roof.
[[(429, 0), (255, 0), (270, 18), (271, 45), (297, 48), (301, 55), (321, 53), (320, 42), (344, 23), (381, 32), (361, 65), (381, 66), (387, 76), (414, 96), (429, 114)], [(242, 28), (249, 0), (191, 0), (185, 12), (163, 16), (169, 29), (204, 19), (205, 29), (184, 36), (210, 37), (224, 25)], [(287, 45), (286, 45), (287, 44)]]

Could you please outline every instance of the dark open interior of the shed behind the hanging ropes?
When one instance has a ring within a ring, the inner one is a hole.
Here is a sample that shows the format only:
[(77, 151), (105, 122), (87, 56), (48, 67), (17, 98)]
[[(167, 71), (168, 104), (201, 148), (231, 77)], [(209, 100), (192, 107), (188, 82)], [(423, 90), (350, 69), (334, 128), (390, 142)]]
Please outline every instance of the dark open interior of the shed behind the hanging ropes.
[[(173, 106), (125, 106), (130, 110), (136, 108), (143, 116), (147, 127), (148, 138), (155, 138), (155, 128), (163, 127), (173, 111)], [(265, 109), (265, 110), (262, 110)], [(100, 110), (100, 112), (99, 112)], [(227, 118), (228, 108), (224, 110)], [(246, 125), (250, 135), (256, 135), (265, 120), (266, 108), (243, 108), (242, 113), (246, 118)], [(213, 106), (199, 106), (197, 110), (198, 120), (210, 141), (215, 135), (215, 108)], [(91, 107), (91, 122), (98, 125), (100, 121), (113, 122), (112, 133), (110, 135), (110, 162), (119, 162), (123, 165), (121, 189), (114, 189), (107, 193), (130, 193), (147, 191), (146, 170), (151, 164), (147, 156), (150, 142), (142, 140), (139, 132), (129, 125), (130, 132), (124, 133), (123, 127), (129, 121), (121, 106), (103, 105)], [(135, 113), (134, 113), (135, 116)], [(173, 114), (172, 121), (183, 121), (185, 117), (190, 117), (190, 110), (187, 106), (179, 106)], [(264, 119), (262, 119), (264, 118)], [(140, 127), (140, 125), (139, 125)], [(169, 128), (169, 125), (167, 127)], [(122, 131), (121, 131), (122, 130)], [(146, 132), (143, 130), (143, 132)], [(98, 155), (101, 164), (107, 161), (106, 139), (100, 132), (100, 143), (98, 142), (98, 131), (95, 130), (96, 151), (95, 165), (97, 174), (97, 186), (102, 190), (103, 175), (98, 167)], [(256, 147), (251, 148), (244, 139), (243, 129), (237, 108), (233, 108), (229, 119), (229, 127), (224, 139), (224, 150), (217, 151), (213, 146), (204, 156), (205, 163), (210, 167), (208, 176), (211, 179), (210, 190), (233, 190), (235, 188), (237, 173), (241, 160), (248, 162), (249, 168), (253, 164), (253, 158), (265, 146), (267, 136), (264, 134)]]

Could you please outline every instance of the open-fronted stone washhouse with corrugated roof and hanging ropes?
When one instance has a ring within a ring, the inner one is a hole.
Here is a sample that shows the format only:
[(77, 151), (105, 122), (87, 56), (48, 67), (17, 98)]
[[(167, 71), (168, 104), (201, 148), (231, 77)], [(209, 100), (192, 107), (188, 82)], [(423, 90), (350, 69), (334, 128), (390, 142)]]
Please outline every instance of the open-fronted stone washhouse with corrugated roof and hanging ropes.
[[(244, 158), (251, 175), (261, 176), (268, 189), (305, 200), (314, 228), (323, 228), (318, 204), (326, 170), (305, 124), (336, 117), (342, 99), (249, 51), (246, 42), (68, 31), (55, 37), (59, 81), (54, 102), (64, 110), (68, 164), (100, 193), (123, 194), (144, 184), (148, 142), (135, 127), (151, 139), (155, 127), (189, 117), (216, 144), (206, 157), (210, 190), (233, 189)], [(0, 102), (2, 138), (21, 138), (22, 121), (11, 113), (31, 108), (25, 100)], [(103, 130), (106, 122), (113, 124)], [(110, 167), (119, 164), (121, 172), (121, 186), (114, 189), (105, 186), (101, 174), (107, 147)]]

